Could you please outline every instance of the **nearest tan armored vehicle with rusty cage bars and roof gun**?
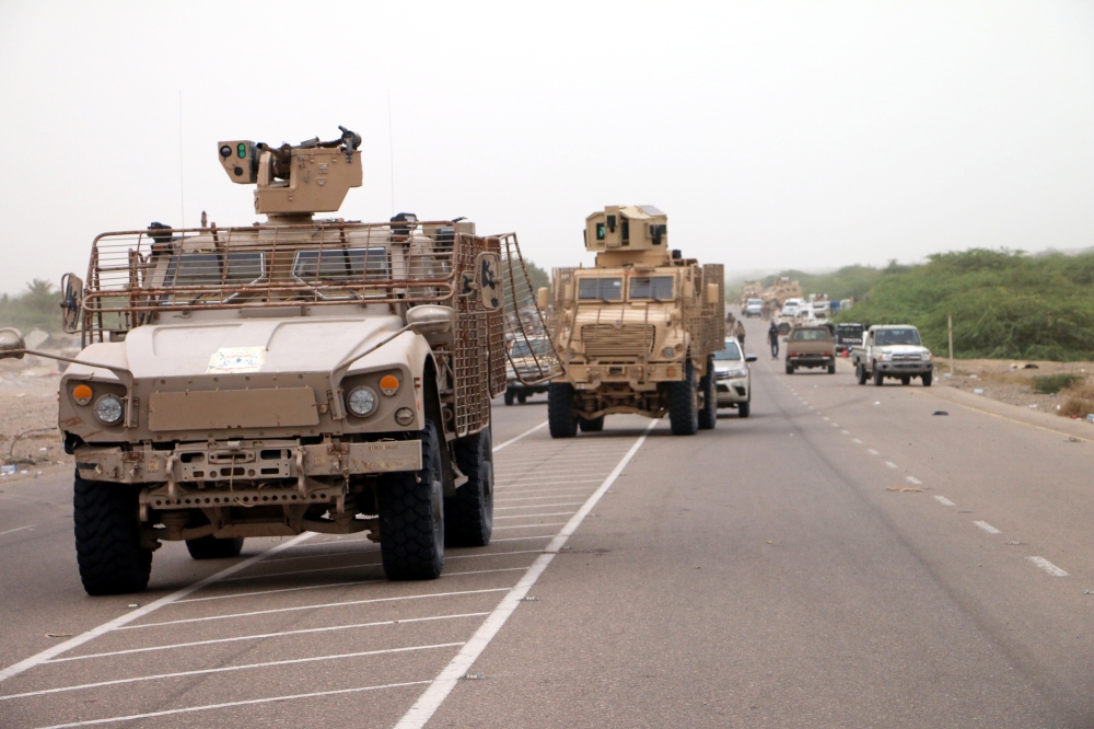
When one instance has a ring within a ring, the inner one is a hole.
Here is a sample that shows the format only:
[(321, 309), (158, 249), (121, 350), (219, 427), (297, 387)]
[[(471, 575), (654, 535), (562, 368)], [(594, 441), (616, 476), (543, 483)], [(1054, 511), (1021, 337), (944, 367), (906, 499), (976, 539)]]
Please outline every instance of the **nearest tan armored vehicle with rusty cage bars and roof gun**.
[[(435, 578), (445, 545), (490, 541), (490, 400), (505, 312), (525, 305), (503, 285), (523, 271), (515, 236), (313, 219), (361, 185), (360, 137), (342, 131), (221, 142), (268, 222), (104, 233), (86, 288), (66, 277), (84, 349), (63, 360), (59, 425), (88, 592), (144, 589), (164, 540), (201, 559), (248, 536), (368, 531), (391, 579)], [(544, 336), (533, 324), (508, 338)], [(0, 357), (26, 351), (0, 331)]]

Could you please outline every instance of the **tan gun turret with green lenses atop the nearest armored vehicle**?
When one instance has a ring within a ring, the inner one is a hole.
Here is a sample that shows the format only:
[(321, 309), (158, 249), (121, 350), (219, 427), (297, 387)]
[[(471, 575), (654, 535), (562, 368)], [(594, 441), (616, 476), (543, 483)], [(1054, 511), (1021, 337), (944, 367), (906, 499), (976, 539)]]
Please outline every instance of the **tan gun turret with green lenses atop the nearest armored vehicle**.
[(331, 141), (318, 137), (272, 147), (249, 139), (217, 144), (229, 180), (257, 185), (255, 212), (310, 216), (341, 207), (350, 187), (361, 186), (361, 136), (346, 127)]

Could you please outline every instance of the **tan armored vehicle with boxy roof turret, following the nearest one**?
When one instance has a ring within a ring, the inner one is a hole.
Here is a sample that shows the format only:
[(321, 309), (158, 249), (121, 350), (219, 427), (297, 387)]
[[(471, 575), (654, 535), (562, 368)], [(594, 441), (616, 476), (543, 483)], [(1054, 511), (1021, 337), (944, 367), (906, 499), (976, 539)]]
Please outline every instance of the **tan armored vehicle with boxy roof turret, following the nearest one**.
[(614, 413), (667, 414), (675, 435), (713, 428), (722, 266), (671, 251), (667, 218), (649, 205), (589, 216), (585, 248), (596, 252), (594, 268), (555, 269), (554, 339), (566, 374), (547, 393), (551, 436), (601, 430)]

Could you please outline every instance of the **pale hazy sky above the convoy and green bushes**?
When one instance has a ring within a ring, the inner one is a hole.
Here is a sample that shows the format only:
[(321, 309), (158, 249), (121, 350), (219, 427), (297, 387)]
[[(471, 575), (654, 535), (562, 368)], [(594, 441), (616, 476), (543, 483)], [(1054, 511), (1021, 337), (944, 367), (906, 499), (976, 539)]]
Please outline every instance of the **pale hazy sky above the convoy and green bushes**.
[(1094, 245), (1087, 0), (0, 0), (0, 290), (103, 231), (249, 224), (217, 141), (339, 124), (340, 215), (466, 216), (547, 267), (612, 204), (734, 270)]

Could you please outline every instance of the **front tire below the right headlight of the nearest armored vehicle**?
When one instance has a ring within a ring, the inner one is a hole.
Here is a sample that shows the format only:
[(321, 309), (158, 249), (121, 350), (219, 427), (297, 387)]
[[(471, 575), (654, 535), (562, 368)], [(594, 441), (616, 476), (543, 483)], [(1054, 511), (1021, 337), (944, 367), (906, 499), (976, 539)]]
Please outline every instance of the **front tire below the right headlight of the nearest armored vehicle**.
[(437, 426), (421, 430), (421, 471), (380, 481), (380, 556), (389, 580), (432, 580), (444, 568), (444, 486)]

